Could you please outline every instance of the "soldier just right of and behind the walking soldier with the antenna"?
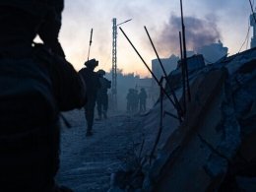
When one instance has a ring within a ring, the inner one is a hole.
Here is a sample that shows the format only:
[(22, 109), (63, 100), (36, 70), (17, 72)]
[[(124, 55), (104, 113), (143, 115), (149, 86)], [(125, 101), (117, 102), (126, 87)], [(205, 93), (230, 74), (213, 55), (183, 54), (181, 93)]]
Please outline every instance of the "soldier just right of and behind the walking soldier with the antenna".
[(100, 88), (97, 91), (96, 95), (96, 108), (97, 108), (97, 115), (98, 120), (101, 119), (103, 114), (104, 118), (107, 118), (107, 108), (108, 108), (108, 96), (107, 96), (107, 89), (111, 88), (111, 82), (104, 78), (105, 71), (100, 69), (96, 72), (99, 77)]

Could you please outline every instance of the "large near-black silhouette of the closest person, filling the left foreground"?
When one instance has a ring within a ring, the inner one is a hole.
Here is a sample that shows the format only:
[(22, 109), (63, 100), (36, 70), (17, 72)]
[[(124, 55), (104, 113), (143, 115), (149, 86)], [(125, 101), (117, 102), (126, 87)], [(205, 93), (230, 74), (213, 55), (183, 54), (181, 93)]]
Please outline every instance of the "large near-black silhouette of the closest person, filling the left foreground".
[(63, 57), (32, 43), (55, 14), (48, 2), (0, 1), (0, 191), (72, 191), (54, 181), (59, 116), (85, 105), (85, 85)]

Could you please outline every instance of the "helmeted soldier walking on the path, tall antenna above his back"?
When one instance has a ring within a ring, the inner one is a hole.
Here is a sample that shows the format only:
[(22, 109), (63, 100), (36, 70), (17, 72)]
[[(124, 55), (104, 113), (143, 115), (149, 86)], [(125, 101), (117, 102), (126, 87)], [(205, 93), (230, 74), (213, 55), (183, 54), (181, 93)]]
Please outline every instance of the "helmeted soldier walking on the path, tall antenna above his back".
[(99, 78), (94, 71), (98, 65), (96, 59), (91, 59), (85, 62), (86, 68), (79, 71), (87, 85), (87, 103), (85, 105), (85, 115), (87, 119), (87, 134), (86, 136), (93, 135), (93, 125), (95, 118), (96, 94), (100, 88)]

